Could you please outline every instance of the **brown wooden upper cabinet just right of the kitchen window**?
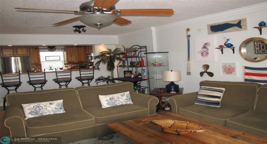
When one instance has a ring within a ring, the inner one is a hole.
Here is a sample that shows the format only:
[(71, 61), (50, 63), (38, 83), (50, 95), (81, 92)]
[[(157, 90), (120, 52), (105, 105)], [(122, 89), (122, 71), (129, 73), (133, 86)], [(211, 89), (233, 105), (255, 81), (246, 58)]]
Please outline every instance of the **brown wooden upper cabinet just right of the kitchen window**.
[(84, 46), (67, 46), (65, 51), (67, 62), (86, 62)]

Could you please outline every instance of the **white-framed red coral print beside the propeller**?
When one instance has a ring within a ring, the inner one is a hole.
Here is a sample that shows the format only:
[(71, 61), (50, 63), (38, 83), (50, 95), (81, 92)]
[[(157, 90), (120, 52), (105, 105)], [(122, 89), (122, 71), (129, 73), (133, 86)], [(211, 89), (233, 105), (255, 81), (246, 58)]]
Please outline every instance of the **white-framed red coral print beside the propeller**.
[(234, 62), (220, 63), (221, 76), (236, 76), (236, 66)]

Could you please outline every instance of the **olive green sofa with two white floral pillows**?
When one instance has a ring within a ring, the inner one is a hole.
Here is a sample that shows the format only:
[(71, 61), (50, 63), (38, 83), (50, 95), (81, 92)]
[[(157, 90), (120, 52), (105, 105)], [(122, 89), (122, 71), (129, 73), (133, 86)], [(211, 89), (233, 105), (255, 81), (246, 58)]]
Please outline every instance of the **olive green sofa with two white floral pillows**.
[[(127, 91), (133, 104), (102, 108), (98, 95)], [(21, 104), (55, 100), (63, 100), (64, 113), (25, 120)], [(61, 143), (68, 143), (108, 135), (114, 133), (108, 129), (108, 123), (154, 115), (158, 104), (158, 98), (134, 92), (130, 82), (19, 92), (7, 95), (6, 101), (3, 122), (10, 130), (12, 143), (16, 143), (16, 137), (60, 137)], [(58, 141), (49, 143), (58, 144)]]

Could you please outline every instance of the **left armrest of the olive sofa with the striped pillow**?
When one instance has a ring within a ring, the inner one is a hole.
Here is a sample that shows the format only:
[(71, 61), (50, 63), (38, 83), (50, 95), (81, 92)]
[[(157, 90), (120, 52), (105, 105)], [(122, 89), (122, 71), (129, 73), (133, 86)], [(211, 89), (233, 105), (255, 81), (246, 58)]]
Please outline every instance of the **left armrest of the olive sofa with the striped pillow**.
[(171, 104), (171, 111), (173, 113), (178, 114), (179, 108), (184, 106), (194, 105), (197, 95), (198, 92), (192, 92), (187, 94), (171, 96), (169, 98), (169, 103)]

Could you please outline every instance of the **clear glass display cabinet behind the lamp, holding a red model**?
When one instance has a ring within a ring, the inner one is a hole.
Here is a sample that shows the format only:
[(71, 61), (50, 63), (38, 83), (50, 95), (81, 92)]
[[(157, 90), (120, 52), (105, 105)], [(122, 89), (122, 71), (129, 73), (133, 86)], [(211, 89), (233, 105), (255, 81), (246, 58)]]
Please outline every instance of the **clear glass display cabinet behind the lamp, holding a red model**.
[(169, 71), (169, 52), (148, 52), (146, 57), (146, 79), (148, 94), (154, 88), (165, 88), (169, 82), (162, 81), (164, 71)]

